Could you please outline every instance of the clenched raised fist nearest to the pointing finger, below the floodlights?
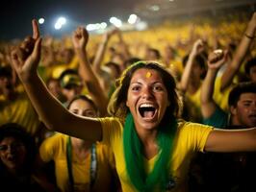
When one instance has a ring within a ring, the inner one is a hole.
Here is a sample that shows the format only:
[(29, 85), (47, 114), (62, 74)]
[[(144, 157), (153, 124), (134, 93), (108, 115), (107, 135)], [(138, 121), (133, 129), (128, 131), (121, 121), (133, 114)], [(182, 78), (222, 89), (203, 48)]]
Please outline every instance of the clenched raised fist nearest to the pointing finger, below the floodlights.
[(89, 33), (83, 27), (78, 27), (76, 31), (73, 32), (72, 42), (74, 49), (83, 49), (85, 50), (89, 40)]

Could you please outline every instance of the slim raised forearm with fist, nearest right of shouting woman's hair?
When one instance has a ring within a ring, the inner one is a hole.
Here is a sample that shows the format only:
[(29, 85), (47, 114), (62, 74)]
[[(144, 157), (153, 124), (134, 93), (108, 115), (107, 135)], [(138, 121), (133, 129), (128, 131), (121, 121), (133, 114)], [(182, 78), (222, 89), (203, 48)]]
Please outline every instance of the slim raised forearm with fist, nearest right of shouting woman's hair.
[(186, 90), (188, 89), (190, 77), (192, 74), (192, 66), (194, 63), (194, 59), (198, 54), (200, 54), (202, 52), (203, 49), (204, 49), (203, 41), (201, 39), (197, 39), (192, 45), (192, 52), (190, 53), (189, 59), (186, 63), (184, 72), (181, 77), (181, 82), (179, 84), (180, 89), (183, 92), (186, 92)]

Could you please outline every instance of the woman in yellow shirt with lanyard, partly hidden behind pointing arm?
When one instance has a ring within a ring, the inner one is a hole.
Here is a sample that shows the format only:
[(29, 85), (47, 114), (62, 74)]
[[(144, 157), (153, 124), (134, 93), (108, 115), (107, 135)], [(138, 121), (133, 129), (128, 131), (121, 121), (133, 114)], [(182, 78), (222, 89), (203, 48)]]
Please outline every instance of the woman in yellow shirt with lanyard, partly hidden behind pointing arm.
[[(97, 116), (96, 106), (85, 95), (76, 96), (67, 108), (80, 116)], [(54, 160), (57, 185), (63, 192), (116, 190), (115, 158), (106, 145), (56, 133), (42, 142), (39, 155), (43, 162)]]

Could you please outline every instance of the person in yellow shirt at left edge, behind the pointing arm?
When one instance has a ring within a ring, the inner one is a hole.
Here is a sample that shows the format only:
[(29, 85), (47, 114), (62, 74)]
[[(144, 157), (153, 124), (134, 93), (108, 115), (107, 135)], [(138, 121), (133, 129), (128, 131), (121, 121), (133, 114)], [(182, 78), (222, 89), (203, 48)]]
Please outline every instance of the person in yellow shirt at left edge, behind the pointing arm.
[(35, 137), (40, 135), (38, 114), (24, 91), (13, 84), (11, 66), (0, 67), (0, 126), (17, 123)]

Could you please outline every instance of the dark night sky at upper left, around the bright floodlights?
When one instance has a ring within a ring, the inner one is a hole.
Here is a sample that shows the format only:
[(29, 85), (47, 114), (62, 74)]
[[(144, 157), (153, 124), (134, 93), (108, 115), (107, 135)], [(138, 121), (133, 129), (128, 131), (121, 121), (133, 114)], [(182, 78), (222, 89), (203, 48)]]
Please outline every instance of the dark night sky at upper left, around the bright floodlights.
[[(138, 0), (1, 0), (0, 39), (24, 37), (31, 33), (32, 18), (45, 18), (45, 34), (53, 30), (55, 19), (64, 15), (73, 24), (107, 22), (112, 15), (126, 19)], [(72, 29), (68, 29), (72, 30)]]

